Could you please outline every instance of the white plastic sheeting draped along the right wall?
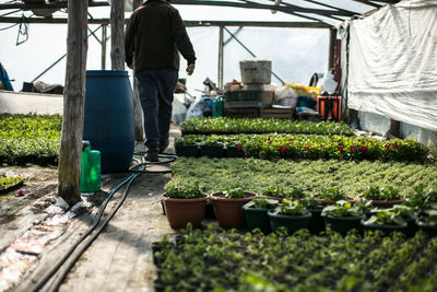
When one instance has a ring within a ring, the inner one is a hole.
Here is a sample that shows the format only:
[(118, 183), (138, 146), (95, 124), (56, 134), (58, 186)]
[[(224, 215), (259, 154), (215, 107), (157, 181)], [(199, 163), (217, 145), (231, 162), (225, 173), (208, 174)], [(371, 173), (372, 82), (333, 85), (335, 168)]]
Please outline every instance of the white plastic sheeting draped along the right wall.
[(352, 21), (349, 61), (350, 108), (437, 131), (437, 0)]

